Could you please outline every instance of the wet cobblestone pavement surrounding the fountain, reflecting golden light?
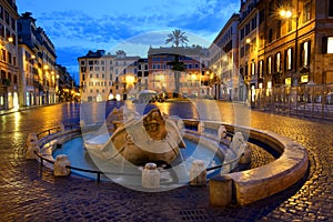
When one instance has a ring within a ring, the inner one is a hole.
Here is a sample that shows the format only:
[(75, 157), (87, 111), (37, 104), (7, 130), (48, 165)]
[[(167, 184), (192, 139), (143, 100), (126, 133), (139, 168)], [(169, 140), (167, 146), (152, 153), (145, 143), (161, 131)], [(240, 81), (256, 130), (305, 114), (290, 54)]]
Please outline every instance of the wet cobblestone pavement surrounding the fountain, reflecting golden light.
[(51, 170), (24, 159), (30, 132), (78, 121), (77, 112), (59, 104), (0, 117), (0, 221), (333, 221), (332, 122), (253, 111), (251, 127), (306, 148), (309, 173), (269, 199), (214, 208), (208, 186), (144, 193), (73, 175), (54, 178)]

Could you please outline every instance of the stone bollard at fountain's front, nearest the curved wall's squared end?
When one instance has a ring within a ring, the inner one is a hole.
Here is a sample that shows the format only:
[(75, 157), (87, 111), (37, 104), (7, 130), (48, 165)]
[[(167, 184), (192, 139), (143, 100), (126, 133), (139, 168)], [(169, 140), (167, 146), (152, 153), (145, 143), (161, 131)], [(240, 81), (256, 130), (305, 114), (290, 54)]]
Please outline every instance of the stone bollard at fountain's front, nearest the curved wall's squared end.
[(206, 184), (206, 170), (202, 160), (193, 161), (190, 170), (190, 184), (196, 186)]

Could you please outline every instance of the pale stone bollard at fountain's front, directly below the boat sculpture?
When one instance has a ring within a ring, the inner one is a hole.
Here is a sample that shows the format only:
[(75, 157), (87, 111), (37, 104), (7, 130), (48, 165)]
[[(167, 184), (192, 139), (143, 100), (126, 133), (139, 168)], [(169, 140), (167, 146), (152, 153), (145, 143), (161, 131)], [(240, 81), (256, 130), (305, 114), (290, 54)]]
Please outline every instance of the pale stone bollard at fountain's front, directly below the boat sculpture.
[(147, 163), (142, 171), (143, 188), (160, 188), (160, 171), (155, 163)]

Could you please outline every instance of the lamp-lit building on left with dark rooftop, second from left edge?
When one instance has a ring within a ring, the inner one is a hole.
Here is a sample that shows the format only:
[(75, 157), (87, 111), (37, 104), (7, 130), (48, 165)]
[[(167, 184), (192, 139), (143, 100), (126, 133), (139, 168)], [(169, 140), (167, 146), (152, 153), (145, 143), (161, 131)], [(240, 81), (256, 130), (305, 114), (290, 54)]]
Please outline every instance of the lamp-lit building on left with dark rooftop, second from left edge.
[(56, 49), (30, 12), (18, 19), (20, 105), (57, 102)]

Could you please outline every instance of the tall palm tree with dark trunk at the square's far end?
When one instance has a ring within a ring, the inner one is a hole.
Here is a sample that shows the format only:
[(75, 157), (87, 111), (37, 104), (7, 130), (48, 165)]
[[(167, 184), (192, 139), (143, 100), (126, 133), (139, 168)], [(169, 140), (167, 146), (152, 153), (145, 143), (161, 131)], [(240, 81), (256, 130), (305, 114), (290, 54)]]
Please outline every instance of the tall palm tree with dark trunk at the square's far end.
[[(175, 44), (178, 48), (179, 44), (181, 46), (188, 46), (189, 39), (185, 36), (185, 32), (182, 32), (181, 30), (174, 30), (171, 33), (168, 34), (168, 39), (165, 40), (165, 44), (172, 42), (172, 46)], [(179, 95), (180, 92), (180, 74), (181, 71), (185, 70), (185, 65), (183, 62), (179, 61), (179, 54), (174, 54), (174, 61), (169, 62), (169, 65), (172, 65), (172, 70), (174, 71), (174, 87), (175, 87), (175, 94)]]

